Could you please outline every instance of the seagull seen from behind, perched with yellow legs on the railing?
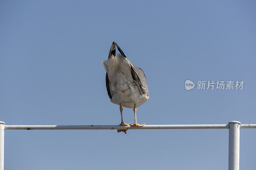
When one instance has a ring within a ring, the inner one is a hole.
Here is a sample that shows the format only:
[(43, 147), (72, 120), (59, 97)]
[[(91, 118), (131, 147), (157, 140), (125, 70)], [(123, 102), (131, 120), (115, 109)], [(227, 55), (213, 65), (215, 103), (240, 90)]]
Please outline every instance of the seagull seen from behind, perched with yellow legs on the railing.
[[(121, 54), (116, 55), (116, 48)], [(120, 125), (142, 127), (136, 119), (137, 107), (145, 103), (149, 98), (146, 76), (140, 67), (133, 65), (124, 55), (121, 48), (113, 42), (109, 51), (108, 59), (102, 62), (106, 70), (106, 87), (108, 97), (112, 103), (120, 106)], [(123, 121), (123, 107), (133, 108), (135, 122), (126, 124)], [(127, 129), (117, 129), (117, 132), (124, 132)]]

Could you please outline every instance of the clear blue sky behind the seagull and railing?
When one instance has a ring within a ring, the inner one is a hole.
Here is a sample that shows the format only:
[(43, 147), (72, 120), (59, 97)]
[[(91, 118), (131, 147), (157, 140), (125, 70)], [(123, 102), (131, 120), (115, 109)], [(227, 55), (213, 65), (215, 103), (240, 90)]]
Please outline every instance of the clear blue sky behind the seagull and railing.
[[(148, 80), (138, 123), (256, 123), (255, 1), (1, 1), (0, 121), (117, 125), (101, 62), (116, 41)], [(185, 80), (243, 90), (185, 90)], [(124, 122), (133, 110), (124, 108)], [(256, 129), (240, 131), (256, 167)], [(6, 130), (5, 170), (227, 169), (228, 129)]]

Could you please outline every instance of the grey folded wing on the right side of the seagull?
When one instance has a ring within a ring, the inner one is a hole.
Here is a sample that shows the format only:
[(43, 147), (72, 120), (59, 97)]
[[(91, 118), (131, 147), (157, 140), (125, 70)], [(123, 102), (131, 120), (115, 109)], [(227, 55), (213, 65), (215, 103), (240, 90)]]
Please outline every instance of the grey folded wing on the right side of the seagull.
[(148, 96), (149, 95), (148, 83), (143, 70), (140, 67), (136, 67), (131, 63), (131, 73), (132, 73), (133, 81), (138, 86), (141, 95), (147, 94)]

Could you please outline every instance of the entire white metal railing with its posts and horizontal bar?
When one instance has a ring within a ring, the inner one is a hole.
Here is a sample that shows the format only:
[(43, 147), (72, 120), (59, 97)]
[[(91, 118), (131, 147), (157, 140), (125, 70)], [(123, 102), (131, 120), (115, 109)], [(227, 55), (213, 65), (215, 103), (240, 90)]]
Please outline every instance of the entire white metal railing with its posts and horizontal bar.
[(144, 125), (143, 127), (120, 125), (5, 125), (0, 122), (0, 170), (4, 170), (4, 130), (27, 129), (229, 129), (228, 170), (239, 170), (240, 129), (256, 128), (256, 124), (241, 124), (230, 121), (228, 124), (202, 125)]

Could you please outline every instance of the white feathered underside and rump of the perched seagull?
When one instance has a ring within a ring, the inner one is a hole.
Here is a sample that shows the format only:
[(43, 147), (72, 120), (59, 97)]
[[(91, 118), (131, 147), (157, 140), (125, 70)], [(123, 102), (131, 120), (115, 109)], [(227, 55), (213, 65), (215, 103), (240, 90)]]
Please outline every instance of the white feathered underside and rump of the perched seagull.
[(134, 104), (139, 107), (148, 100), (146, 94), (141, 95), (131, 74), (131, 65), (128, 58), (122, 55), (111, 56), (102, 62), (108, 73), (110, 84), (111, 102), (124, 107), (133, 108)]

